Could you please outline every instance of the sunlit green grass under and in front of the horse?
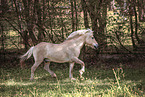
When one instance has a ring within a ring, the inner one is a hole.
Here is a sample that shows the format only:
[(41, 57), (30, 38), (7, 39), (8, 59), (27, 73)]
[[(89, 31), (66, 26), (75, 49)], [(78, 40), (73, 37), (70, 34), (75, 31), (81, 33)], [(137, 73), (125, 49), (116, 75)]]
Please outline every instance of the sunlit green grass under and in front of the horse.
[[(58, 65), (57, 65), (58, 66)], [(86, 68), (84, 79), (74, 68), (75, 81), (68, 78), (68, 67), (52, 66), (58, 78), (51, 78), (41, 66), (30, 81), (30, 67), (0, 68), (0, 97), (143, 97), (145, 68)], [(137, 77), (136, 77), (137, 76)]]

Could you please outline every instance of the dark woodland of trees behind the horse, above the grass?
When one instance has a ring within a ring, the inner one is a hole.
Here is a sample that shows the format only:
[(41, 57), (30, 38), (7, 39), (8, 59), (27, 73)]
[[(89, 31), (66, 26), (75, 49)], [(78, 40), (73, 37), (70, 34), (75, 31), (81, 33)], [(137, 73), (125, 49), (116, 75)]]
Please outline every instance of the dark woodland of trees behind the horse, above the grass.
[(94, 31), (99, 48), (84, 47), (83, 59), (86, 54), (90, 60), (99, 54), (144, 58), (145, 0), (1, 0), (0, 7), (2, 63), (18, 60), (42, 41), (60, 43), (85, 28)]

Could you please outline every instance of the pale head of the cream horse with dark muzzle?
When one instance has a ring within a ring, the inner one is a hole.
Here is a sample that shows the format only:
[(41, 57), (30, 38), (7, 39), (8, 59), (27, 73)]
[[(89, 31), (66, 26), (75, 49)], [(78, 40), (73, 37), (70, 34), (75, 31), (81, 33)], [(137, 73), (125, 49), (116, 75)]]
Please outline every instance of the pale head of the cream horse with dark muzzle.
[(98, 43), (97, 43), (97, 41), (95, 40), (95, 38), (93, 36), (93, 31), (90, 30), (90, 29), (87, 29), (87, 30), (88, 31), (86, 32), (86, 40), (85, 40), (85, 43), (88, 46), (96, 49), (98, 47)]

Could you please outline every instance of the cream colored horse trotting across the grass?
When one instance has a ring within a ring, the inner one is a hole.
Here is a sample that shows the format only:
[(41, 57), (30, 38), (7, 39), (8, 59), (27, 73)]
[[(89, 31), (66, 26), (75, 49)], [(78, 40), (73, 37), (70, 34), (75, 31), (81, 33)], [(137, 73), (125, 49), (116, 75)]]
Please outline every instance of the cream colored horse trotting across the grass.
[(93, 37), (93, 31), (90, 29), (75, 31), (60, 44), (41, 42), (36, 46), (31, 47), (26, 54), (22, 55), (21, 61), (28, 59), (33, 54), (35, 63), (31, 67), (31, 80), (34, 79), (34, 71), (44, 61), (44, 59), (48, 61), (45, 63), (44, 69), (47, 70), (52, 77), (56, 77), (56, 74), (49, 69), (50, 62), (69, 62), (69, 77), (72, 80), (75, 80), (72, 74), (74, 63), (81, 64), (82, 66), (82, 69), (79, 71), (80, 76), (85, 72), (84, 62), (78, 59), (80, 50), (84, 44), (87, 44), (94, 49), (98, 47), (98, 43)]

